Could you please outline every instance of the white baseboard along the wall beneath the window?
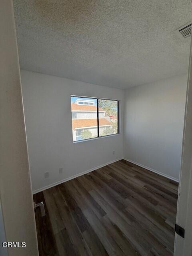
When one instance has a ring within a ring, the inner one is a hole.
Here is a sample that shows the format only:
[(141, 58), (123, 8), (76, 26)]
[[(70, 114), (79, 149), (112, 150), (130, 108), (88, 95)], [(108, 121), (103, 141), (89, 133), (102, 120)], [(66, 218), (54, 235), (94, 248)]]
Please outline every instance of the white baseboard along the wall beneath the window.
[(117, 161), (122, 160), (122, 159), (123, 159), (123, 158), (118, 158), (118, 159), (113, 160), (113, 161), (110, 161), (110, 162), (108, 162), (108, 163), (106, 163), (106, 164), (102, 164), (102, 165), (97, 166), (97, 167), (94, 167), (94, 168), (92, 168), (92, 169), (90, 169), (90, 170), (87, 170), (87, 171), (78, 173), (78, 174), (76, 174), (76, 175), (74, 175), (74, 176), (71, 176), (71, 177), (69, 177), (69, 178), (66, 178), (66, 179), (64, 179), (64, 180), (60, 180), (60, 181), (58, 181), (58, 182), (55, 182), (55, 183), (52, 183), (52, 184), (50, 184), (50, 185), (44, 186), (44, 187), (42, 187), (42, 188), (39, 188), (39, 189), (37, 189), (37, 190), (34, 190), (34, 191), (33, 191), (33, 194), (36, 194), (36, 193), (41, 192), (41, 191), (43, 191), (43, 190), (46, 190), (46, 189), (48, 189), (48, 188), (52, 188), (52, 187), (54, 187), (54, 186), (56, 186), (56, 185), (59, 185), (59, 184), (61, 184), (61, 183), (63, 183), (63, 182), (66, 182), (66, 181), (68, 181), (68, 180), (72, 180), (72, 179), (77, 178), (77, 177), (79, 177), (79, 176), (82, 176), (82, 175), (84, 175), (84, 174), (86, 174), (86, 173), (88, 173), (88, 172), (92, 172), (92, 171), (94, 171), (94, 170), (97, 170), (97, 169), (102, 168), (102, 167), (104, 167), (104, 166), (106, 166), (106, 165), (108, 165), (108, 164), (112, 164), (112, 163), (117, 162)]

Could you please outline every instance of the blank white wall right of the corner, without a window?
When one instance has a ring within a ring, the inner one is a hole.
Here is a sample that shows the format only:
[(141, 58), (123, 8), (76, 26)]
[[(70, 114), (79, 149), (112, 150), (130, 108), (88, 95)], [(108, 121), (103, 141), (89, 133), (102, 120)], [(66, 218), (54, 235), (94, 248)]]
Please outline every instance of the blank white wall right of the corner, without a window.
[(187, 76), (126, 90), (124, 156), (179, 179)]

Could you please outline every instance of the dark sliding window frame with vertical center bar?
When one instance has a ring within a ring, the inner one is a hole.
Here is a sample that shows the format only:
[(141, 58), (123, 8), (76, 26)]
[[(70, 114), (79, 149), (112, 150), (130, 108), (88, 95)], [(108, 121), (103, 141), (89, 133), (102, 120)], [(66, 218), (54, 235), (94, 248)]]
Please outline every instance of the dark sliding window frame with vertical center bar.
[[(84, 140), (73, 140), (73, 136), (72, 136), (73, 143), (87, 141), (87, 140), (94, 140), (94, 139), (98, 139), (98, 138), (104, 138), (104, 137), (114, 136), (114, 135), (120, 134), (119, 133), (119, 100), (107, 99), (107, 98), (95, 98), (95, 97), (88, 97), (88, 96), (76, 96), (76, 95), (71, 95), (70, 97), (94, 99), (97, 102), (97, 110), (96, 110), (96, 112), (97, 112), (97, 137), (88, 138), (88, 139), (84, 139)], [(113, 100), (113, 101), (117, 102), (117, 133), (104, 135), (104, 136), (99, 136), (99, 100)], [(81, 104), (81, 105), (84, 105), (84, 104)], [(89, 105), (88, 104), (86, 106), (94, 106), (94, 105)], [(71, 110), (71, 113), (72, 113), (72, 110)], [(72, 118), (71, 118), (71, 120), (72, 120)]]

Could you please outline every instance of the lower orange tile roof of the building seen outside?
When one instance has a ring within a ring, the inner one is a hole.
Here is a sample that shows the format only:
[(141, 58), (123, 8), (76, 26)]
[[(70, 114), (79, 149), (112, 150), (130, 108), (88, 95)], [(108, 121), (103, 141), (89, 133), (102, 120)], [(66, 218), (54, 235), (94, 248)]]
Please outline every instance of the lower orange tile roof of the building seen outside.
[[(111, 123), (105, 118), (100, 118), (99, 125), (111, 125)], [(73, 130), (75, 130), (76, 128), (91, 127), (91, 126), (97, 126), (97, 119), (93, 118), (93, 119), (73, 119), (72, 120)]]

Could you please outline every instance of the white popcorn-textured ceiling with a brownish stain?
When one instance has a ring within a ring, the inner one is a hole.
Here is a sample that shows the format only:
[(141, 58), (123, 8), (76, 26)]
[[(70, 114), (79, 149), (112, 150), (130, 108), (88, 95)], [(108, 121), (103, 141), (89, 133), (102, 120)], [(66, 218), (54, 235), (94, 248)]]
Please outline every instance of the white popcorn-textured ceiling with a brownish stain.
[(187, 72), (190, 0), (13, 0), (20, 67), (128, 88)]

